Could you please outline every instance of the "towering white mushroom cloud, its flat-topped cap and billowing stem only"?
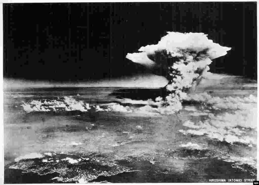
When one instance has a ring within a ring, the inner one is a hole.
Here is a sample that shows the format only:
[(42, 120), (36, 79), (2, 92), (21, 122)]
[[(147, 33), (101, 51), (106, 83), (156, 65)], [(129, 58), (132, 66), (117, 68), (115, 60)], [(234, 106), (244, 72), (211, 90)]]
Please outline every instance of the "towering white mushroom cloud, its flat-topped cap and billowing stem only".
[(156, 101), (160, 108), (178, 111), (186, 92), (208, 73), (211, 60), (226, 55), (231, 48), (213, 43), (204, 33), (167, 33), (158, 44), (142, 46), (140, 53), (128, 53), (126, 58), (147, 67), (157, 64), (166, 69), (168, 96)]

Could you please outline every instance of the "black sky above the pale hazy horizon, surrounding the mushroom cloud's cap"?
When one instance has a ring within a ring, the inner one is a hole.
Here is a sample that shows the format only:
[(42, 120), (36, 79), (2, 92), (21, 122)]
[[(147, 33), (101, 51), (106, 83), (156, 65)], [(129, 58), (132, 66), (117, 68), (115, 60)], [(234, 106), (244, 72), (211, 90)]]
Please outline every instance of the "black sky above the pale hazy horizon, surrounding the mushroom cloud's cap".
[(212, 72), (257, 78), (256, 2), (3, 4), (4, 77), (87, 81), (148, 72), (126, 59), (166, 31), (232, 47)]

